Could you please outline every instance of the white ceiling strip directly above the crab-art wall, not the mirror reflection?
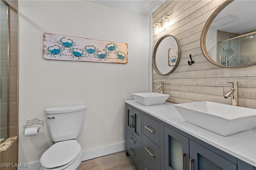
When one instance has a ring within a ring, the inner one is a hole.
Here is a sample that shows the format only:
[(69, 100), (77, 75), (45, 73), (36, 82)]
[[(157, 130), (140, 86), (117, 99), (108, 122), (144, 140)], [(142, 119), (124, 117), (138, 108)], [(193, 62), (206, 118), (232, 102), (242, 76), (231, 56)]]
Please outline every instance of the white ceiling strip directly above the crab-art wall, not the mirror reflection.
[(165, 0), (88, 0), (96, 4), (118, 8), (143, 15), (155, 12)]

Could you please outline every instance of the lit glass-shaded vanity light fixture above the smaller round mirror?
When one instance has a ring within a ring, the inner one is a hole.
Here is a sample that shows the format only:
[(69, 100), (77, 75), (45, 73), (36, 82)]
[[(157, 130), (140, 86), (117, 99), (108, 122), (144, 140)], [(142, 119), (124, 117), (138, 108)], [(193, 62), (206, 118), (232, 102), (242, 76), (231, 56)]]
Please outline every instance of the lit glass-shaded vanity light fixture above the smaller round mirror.
[(167, 14), (164, 15), (164, 17), (161, 20), (159, 20), (158, 22), (155, 21), (155, 24), (153, 25), (154, 35), (157, 35), (164, 29), (167, 29), (168, 27), (171, 26), (170, 14), (171, 14), (171, 12), (168, 12)]

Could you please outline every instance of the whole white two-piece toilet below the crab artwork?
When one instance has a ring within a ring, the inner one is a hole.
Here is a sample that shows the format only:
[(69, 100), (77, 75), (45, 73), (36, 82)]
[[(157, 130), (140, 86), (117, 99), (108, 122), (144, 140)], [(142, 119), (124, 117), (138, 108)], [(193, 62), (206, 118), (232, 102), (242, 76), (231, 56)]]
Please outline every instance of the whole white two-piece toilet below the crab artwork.
[(75, 170), (82, 162), (82, 148), (76, 141), (84, 127), (86, 105), (45, 109), (46, 122), (54, 142), (40, 158), (39, 170)]

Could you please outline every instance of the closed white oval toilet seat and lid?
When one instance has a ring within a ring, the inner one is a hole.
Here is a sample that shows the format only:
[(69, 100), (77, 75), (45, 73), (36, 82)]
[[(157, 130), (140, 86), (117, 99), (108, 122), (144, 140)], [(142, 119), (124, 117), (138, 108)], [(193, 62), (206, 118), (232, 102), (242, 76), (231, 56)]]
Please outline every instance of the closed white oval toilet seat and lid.
[(81, 146), (76, 139), (57, 142), (42, 154), (40, 164), (47, 169), (64, 169), (70, 166), (81, 152)]

